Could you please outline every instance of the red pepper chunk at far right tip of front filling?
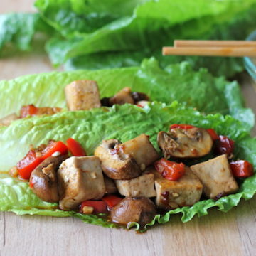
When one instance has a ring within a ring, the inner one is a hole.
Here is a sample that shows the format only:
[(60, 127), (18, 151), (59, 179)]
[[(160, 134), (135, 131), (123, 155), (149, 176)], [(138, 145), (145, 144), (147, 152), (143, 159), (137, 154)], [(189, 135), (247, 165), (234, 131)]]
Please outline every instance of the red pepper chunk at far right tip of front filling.
[(230, 167), (234, 177), (245, 178), (253, 175), (253, 166), (246, 160), (232, 161)]

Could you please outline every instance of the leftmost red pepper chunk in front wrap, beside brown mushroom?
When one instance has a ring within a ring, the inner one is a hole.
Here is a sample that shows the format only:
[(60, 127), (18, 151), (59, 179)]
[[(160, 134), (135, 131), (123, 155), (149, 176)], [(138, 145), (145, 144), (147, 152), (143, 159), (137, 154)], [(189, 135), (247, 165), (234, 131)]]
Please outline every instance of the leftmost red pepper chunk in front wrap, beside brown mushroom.
[(36, 152), (34, 150), (28, 151), (28, 154), (26, 154), (26, 156), (17, 164), (18, 174), (21, 178), (29, 179), (33, 169), (36, 169), (42, 161), (43, 159), (41, 157), (36, 157)]

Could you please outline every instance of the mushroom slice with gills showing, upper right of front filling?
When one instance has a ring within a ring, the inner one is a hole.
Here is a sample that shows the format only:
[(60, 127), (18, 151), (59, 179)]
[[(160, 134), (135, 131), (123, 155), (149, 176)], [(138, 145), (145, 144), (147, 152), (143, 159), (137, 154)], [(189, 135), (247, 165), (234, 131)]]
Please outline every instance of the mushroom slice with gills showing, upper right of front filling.
[(205, 156), (213, 147), (213, 139), (210, 134), (206, 129), (197, 127), (191, 129), (172, 128), (169, 133), (159, 132), (157, 142), (166, 159)]

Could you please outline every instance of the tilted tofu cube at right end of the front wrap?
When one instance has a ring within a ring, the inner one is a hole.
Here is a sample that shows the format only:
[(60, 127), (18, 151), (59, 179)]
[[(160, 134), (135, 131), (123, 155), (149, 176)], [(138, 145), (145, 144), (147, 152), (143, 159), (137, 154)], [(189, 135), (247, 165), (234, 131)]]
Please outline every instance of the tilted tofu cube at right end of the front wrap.
[(219, 198), (238, 190), (225, 154), (191, 166), (191, 170), (203, 183), (203, 193), (208, 198)]

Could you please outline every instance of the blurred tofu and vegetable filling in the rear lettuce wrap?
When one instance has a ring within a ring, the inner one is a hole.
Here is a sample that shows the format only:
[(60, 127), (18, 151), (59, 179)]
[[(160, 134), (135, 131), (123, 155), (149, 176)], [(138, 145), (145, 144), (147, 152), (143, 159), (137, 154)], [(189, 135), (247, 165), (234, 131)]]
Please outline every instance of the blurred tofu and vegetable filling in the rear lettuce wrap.
[[(144, 107), (149, 103), (149, 97), (142, 92), (132, 92), (131, 88), (124, 87), (113, 97), (104, 97), (100, 100), (100, 91), (97, 82), (93, 80), (76, 80), (64, 89), (68, 110), (90, 110), (95, 107), (111, 107), (125, 103)], [(9, 114), (0, 119), (0, 125), (8, 126), (12, 121), (24, 117), (55, 114), (62, 111), (60, 107), (36, 107), (33, 104), (21, 107), (20, 114)]]

